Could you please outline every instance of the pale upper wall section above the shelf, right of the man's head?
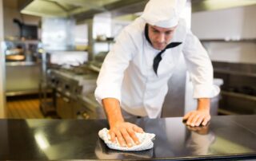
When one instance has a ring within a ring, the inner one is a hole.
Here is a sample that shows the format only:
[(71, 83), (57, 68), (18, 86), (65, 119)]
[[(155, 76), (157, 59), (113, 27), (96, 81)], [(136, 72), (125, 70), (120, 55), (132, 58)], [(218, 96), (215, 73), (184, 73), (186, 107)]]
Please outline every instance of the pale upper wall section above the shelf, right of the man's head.
[(200, 39), (256, 38), (256, 5), (192, 14), (193, 32)]

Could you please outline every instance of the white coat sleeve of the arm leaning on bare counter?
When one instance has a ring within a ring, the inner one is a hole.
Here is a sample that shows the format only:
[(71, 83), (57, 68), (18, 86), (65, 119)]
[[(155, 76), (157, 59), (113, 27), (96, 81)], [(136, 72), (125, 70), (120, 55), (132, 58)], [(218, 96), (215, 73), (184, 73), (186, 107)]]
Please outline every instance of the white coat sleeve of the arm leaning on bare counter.
[(193, 97), (212, 98), (217, 96), (220, 89), (213, 84), (214, 72), (210, 57), (198, 37), (195, 37), (190, 29), (186, 33), (182, 53), (194, 86)]

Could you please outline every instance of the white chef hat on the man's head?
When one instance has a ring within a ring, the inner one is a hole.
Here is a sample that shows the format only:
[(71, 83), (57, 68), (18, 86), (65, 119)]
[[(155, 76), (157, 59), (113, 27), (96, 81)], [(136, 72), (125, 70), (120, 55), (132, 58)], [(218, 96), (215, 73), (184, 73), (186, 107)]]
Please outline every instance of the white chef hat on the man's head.
[(151, 26), (171, 28), (178, 25), (178, 19), (186, 0), (150, 0), (142, 18)]

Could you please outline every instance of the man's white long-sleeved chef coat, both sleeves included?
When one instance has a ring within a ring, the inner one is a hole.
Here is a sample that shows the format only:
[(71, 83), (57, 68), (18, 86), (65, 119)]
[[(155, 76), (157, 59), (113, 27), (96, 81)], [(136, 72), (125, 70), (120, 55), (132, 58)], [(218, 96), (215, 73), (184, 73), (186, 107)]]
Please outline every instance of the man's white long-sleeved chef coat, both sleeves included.
[(167, 82), (181, 54), (194, 84), (194, 98), (218, 95), (210, 58), (198, 38), (186, 28), (185, 21), (179, 21), (171, 40), (182, 44), (162, 53), (158, 75), (154, 73), (153, 61), (160, 50), (146, 40), (145, 25), (142, 18), (137, 18), (126, 26), (107, 54), (94, 93), (100, 104), (104, 98), (115, 98), (132, 115), (158, 117), (168, 91)]

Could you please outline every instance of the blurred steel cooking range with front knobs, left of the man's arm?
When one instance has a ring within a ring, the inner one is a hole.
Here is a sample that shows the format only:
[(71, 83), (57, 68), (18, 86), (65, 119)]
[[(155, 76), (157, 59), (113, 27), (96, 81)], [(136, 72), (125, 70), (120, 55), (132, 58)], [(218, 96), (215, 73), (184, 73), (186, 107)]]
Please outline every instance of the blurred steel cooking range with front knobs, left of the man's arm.
[(49, 69), (47, 84), (52, 90), (52, 96), (48, 97), (51, 104), (48, 108), (42, 108), (45, 112), (55, 109), (62, 119), (96, 118), (94, 107), (86, 106), (81, 98), (94, 92), (97, 77), (98, 73), (91, 71), (86, 65)]

